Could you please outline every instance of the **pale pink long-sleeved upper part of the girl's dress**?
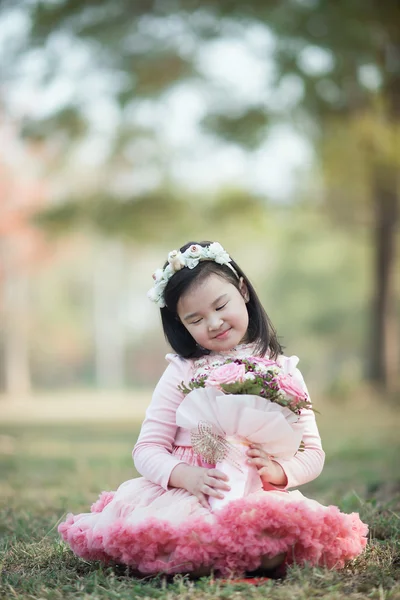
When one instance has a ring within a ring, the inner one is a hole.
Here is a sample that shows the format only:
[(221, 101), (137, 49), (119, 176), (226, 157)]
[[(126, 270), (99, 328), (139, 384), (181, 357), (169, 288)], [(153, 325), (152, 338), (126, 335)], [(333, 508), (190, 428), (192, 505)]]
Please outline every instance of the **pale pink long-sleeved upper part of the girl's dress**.
[[(293, 362), (296, 357), (280, 357), (281, 364)], [(167, 354), (169, 365), (158, 382), (152, 401), (146, 411), (138, 441), (133, 449), (137, 471), (165, 490), (172, 470), (183, 461), (172, 455), (174, 446), (191, 446), (190, 431), (176, 425), (176, 411), (184, 396), (178, 390), (182, 381), (187, 382), (193, 373), (193, 361), (175, 354)], [(298, 360), (298, 359), (297, 359)], [(298, 369), (296, 369), (299, 373)], [(303, 384), (304, 384), (304, 380)], [(304, 388), (306, 388), (304, 384)], [(312, 481), (322, 471), (325, 453), (322, 450), (315, 415), (303, 410), (294, 427), (303, 427), (304, 451), (290, 459), (274, 459), (286, 473), (287, 484), (280, 489), (297, 487)]]

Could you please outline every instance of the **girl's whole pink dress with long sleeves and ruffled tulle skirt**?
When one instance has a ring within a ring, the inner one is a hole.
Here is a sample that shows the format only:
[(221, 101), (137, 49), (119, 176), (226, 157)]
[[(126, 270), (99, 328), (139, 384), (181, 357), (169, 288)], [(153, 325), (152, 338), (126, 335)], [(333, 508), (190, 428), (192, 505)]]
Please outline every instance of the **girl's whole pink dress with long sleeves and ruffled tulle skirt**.
[[(251, 348), (241, 345), (224, 357), (249, 356)], [(358, 556), (366, 545), (367, 526), (357, 513), (344, 514), (298, 490), (288, 491), (315, 479), (323, 467), (325, 455), (311, 410), (302, 411), (299, 421), (304, 452), (278, 460), (287, 476), (285, 487), (265, 485), (215, 511), (202, 507), (186, 490), (169, 487), (179, 463), (209, 466), (194, 454), (190, 432), (176, 425), (183, 399), (178, 385), (221, 356), (166, 358), (170, 364), (155, 388), (133, 451), (143, 476), (124, 482), (116, 492), (103, 492), (90, 513), (67, 516), (58, 530), (72, 550), (86, 560), (122, 563), (144, 574), (189, 573), (211, 566), (225, 576), (254, 570), (262, 556), (282, 552), (289, 563), (328, 568), (341, 568)], [(282, 365), (298, 361), (279, 360)]]

